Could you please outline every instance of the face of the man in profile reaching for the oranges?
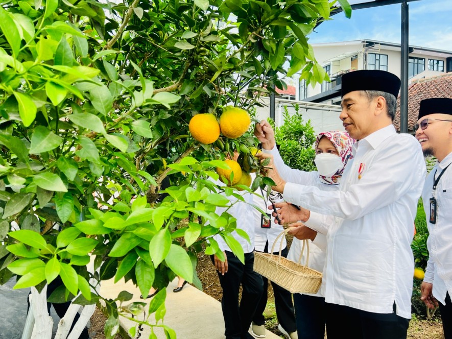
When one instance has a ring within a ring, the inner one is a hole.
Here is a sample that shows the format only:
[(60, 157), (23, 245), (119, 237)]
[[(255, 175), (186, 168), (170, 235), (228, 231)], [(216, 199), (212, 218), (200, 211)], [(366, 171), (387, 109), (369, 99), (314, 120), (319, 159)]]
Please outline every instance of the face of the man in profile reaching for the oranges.
[(373, 132), (375, 101), (369, 101), (361, 91), (352, 91), (343, 96), (339, 117), (353, 139), (361, 140)]

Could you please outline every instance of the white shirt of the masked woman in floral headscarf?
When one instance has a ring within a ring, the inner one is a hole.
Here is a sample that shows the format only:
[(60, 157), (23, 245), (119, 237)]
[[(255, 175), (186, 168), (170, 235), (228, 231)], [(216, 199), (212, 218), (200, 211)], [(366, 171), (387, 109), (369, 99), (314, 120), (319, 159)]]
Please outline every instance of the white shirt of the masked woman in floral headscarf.
[[(276, 168), (278, 169), (278, 173), (282, 179), (287, 182), (292, 182), (301, 185), (307, 186), (316, 186), (321, 190), (331, 191), (339, 189), (339, 185), (328, 185), (320, 181), (319, 172), (305, 172), (300, 171), (299, 169), (291, 168), (284, 163), (279, 154), (276, 147), (273, 147), (272, 150), (263, 150), (265, 153), (269, 153), (273, 155), (273, 161), (275, 163)], [(316, 214), (312, 212), (312, 214)], [(311, 219), (313, 219), (311, 217)], [(306, 226), (310, 226), (309, 222), (304, 223)], [(326, 229), (322, 230), (326, 234)], [(326, 258), (326, 236), (322, 233), (317, 233), (314, 241), (308, 240), (309, 243), (309, 261), (307, 267), (310, 267), (316, 271), (323, 272), (323, 267), (325, 264)], [(300, 262), (300, 264), (306, 263), (306, 254), (307, 251), (305, 249), (304, 253), (301, 253), (303, 248), (303, 241), (298, 240), (297, 238), (293, 238), (291, 247), (289, 249), (289, 254), (287, 256), (288, 259), (294, 262)], [(301, 258), (300, 258), (301, 254)], [(322, 283), (323, 286), (323, 283)], [(319, 288), (318, 292), (313, 295), (316, 297), (323, 297), (323, 288)], [(311, 294), (309, 294), (311, 295)]]

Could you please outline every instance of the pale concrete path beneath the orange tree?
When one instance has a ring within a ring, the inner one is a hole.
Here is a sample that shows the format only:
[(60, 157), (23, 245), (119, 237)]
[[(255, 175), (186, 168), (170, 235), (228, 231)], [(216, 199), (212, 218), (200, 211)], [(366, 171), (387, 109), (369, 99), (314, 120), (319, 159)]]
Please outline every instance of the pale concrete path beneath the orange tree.
[[(179, 293), (174, 293), (177, 279), (166, 288), (166, 314), (164, 324), (176, 331), (178, 339), (224, 339), (224, 321), (221, 303), (196, 287), (186, 284)], [(124, 280), (117, 284), (113, 280), (102, 281), (100, 293), (103, 297), (114, 299), (122, 290), (133, 294), (133, 301), (150, 302), (152, 299), (139, 299), (139, 289), (131, 281)], [(127, 304), (127, 303), (124, 303)], [(155, 318), (150, 317), (155, 323)], [(120, 317), (121, 326), (126, 332), (136, 323)], [(161, 323), (160, 323), (161, 324)], [(156, 329), (158, 338), (164, 338), (163, 330)], [(151, 330), (148, 326), (141, 332), (141, 338), (148, 338)], [(267, 331), (266, 339), (279, 338), (276, 334)]]

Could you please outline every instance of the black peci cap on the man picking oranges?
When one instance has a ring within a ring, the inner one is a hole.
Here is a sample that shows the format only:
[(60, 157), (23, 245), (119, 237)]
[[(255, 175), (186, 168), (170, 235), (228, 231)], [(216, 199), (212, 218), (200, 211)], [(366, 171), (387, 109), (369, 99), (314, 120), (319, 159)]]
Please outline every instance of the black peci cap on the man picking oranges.
[(355, 70), (344, 74), (341, 80), (341, 96), (352, 91), (373, 90), (391, 93), (397, 99), (400, 90), (400, 79), (385, 70)]

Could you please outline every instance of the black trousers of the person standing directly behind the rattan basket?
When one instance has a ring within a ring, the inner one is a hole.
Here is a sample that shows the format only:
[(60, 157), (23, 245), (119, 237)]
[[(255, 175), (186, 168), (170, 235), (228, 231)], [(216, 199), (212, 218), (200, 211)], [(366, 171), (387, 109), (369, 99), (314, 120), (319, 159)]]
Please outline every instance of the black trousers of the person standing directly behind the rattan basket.
[[(268, 253), (268, 241), (265, 245), (264, 252)], [(288, 253), (289, 251), (286, 247), (281, 251), (281, 256), (287, 258)], [(279, 251), (273, 254), (279, 254)], [(257, 304), (256, 313), (253, 317), (253, 322), (257, 325), (264, 325), (265, 323), (264, 311), (267, 306), (268, 299), (268, 279), (266, 277), (262, 277), (262, 280), (264, 281), (263, 293), (260, 297), (259, 303)], [(273, 294), (275, 295), (275, 308), (278, 322), (288, 333), (295, 332), (297, 330), (297, 324), (295, 323), (295, 311), (294, 304), (292, 303), (292, 294), (287, 289), (275, 284), (273, 281), (271, 283), (273, 287)]]

